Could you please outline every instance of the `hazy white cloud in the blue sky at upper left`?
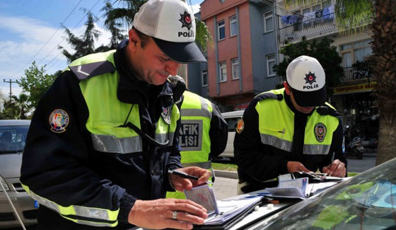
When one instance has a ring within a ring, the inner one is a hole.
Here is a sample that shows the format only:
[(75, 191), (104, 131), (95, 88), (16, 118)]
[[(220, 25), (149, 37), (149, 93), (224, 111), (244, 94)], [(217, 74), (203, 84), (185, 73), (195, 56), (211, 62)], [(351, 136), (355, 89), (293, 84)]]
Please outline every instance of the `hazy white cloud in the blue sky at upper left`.
[[(101, 32), (96, 45), (107, 45), (111, 34), (98, 25), (96, 27)], [(66, 67), (66, 58), (60, 54), (61, 50), (57, 46), (63, 46), (69, 51), (72, 48), (65, 40), (64, 29), (57, 29), (33, 18), (0, 15), (0, 33), (14, 36), (8, 39), (2, 36), (0, 39), (0, 76), (2, 79), (7, 81), (10, 78), (13, 81), (19, 79), (24, 74), (24, 69), (31, 65), (32, 57), (36, 54), (33, 60), (39, 67), (49, 63), (46, 67), (47, 73), (51, 74)], [(72, 28), (69, 29), (72, 30)], [(84, 26), (81, 26), (72, 30), (72, 33), (80, 36), (84, 31)], [(52, 35), (53, 37), (49, 40)], [(45, 45), (47, 42), (48, 44)], [(13, 94), (18, 95), (20, 89), (16, 84), (12, 84), (12, 87)], [(9, 84), (7, 87), (2, 84), (0, 90), (4, 94), (9, 93)]]

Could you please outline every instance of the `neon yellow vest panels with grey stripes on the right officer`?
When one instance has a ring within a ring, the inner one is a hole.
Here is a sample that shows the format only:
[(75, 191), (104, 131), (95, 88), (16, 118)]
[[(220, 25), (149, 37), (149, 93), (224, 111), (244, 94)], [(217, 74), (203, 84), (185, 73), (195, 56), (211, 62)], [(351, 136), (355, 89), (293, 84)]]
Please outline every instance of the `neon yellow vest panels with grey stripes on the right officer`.
[[(284, 89), (265, 93), (283, 94)], [(329, 105), (330, 106), (330, 105)], [(263, 144), (291, 152), (294, 135), (294, 113), (289, 112), (286, 101), (264, 99), (257, 102), (258, 130)], [(337, 129), (339, 119), (322, 116), (316, 110), (308, 117), (303, 154), (327, 155), (332, 143), (333, 132)]]

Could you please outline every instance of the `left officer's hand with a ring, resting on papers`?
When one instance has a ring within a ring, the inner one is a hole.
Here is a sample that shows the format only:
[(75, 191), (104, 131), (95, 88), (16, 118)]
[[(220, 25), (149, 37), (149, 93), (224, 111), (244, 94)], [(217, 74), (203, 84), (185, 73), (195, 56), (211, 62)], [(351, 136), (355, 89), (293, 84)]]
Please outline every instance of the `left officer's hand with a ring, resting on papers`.
[[(173, 211), (177, 220), (172, 219)], [(128, 222), (145, 229), (193, 229), (207, 218), (207, 211), (201, 205), (184, 199), (137, 200), (128, 215)], [(186, 223), (182, 223), (183, 221)]]

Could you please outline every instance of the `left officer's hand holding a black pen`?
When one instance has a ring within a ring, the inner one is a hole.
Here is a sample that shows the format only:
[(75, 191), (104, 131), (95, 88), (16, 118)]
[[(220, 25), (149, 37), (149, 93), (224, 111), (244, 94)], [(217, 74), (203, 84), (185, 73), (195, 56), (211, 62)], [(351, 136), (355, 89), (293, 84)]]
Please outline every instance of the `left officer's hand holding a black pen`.
[(177, 169), (177, 170), (199, 178), (198, 181), (194, 181), (194, 180), (182, 178), (182, 177), (179, 177), (179, 176), (173, 175), (173, 174), (169, 175), (170, 181), (172, 182), (173, 186), (178, 191), (183, 191), (184, 189), (190, 190), (192, 187), (196, 187), (201, 184), (205, 184), (211, 174), (208, 170), (202, 169), (199, 167), (195, 167), (195, 166), (181, 168), (181, 169)]

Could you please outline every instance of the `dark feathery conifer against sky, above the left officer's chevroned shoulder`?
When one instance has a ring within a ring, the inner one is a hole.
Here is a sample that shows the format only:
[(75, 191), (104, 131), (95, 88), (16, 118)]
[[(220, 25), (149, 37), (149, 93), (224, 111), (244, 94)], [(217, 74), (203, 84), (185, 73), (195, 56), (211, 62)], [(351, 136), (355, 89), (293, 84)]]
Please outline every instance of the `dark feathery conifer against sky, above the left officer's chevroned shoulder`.
[(100, 32), (95, 29), (95, 21), (97, 18), (94, 17), (91, 11), (87, 11), (86, 13), (88, 16), (87, 22), (85, 23), (86, 29), (84, 34), (80, 37), (75, 36), (69, 29), (63, 26), (67, 34), (66, 40), (73, 47), (74, 53), (67, 51), (63, 46), (58, 46), (58, 48), (62, 49), (62, 53), (69, 63), (79, 57), (96, 52), (95, 40), (97, 40), (100, 35)]

